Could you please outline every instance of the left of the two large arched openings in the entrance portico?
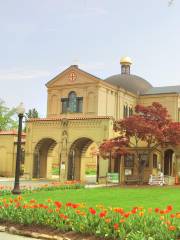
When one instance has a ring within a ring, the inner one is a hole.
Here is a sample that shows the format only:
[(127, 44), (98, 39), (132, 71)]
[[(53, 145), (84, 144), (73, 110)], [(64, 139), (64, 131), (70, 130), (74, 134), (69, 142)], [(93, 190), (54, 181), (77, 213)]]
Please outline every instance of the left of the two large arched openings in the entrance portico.
[(57, 142), (51, 138), (40, 140), (34, 149), (33, 178), (51, 178), (52, 152)]

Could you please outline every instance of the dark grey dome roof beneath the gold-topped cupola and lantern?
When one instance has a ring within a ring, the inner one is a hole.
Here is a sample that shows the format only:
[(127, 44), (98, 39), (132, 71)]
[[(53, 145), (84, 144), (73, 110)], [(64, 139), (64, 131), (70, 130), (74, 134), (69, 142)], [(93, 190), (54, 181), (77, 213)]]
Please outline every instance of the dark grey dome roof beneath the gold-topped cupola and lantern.
[(152, 85), (148, 81), (131, 74), (113, 75), (106, 78), (104, 81), (138, 95), (152, 88)]

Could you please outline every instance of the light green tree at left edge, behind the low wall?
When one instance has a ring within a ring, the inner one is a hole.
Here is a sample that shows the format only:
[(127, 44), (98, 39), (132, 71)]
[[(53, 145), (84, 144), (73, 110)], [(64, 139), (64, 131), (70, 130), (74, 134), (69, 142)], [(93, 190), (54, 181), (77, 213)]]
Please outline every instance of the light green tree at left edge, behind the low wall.
[(18, 121), (15, 108), (8, 108), (0, 99), (0, 131), (17, 129)]

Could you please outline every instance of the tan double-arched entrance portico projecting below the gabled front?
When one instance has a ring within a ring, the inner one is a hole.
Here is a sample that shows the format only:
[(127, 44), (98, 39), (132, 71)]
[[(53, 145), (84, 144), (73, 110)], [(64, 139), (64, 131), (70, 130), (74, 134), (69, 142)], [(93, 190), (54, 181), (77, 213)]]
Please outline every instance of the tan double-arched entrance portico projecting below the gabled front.
[[(82, 179), (83, 158), (86, 158), (85, 162), (88, 158), (92, 160), (94, 164), (92, 165), (96, 168), (96, 156), (89, 155), (90, 144), (99, 145), (103, 139), (110, 138), (112, 129), (113, 119), (106, 116), (74, 117), (68, 113), (57, 118), (54, 116), (32, 119), (27, 123), (27, 131), (30, 134), (26, 139), (25, 171), (30, 177), (49, 178), (52, 172), (50, 162), (53, 158), (53, 163), (59, 164), (61, 181)], [(74, 163), (78, 163), (79, 166)], [(90, 165), (89, 162), (86, 164), (86, 166)]]

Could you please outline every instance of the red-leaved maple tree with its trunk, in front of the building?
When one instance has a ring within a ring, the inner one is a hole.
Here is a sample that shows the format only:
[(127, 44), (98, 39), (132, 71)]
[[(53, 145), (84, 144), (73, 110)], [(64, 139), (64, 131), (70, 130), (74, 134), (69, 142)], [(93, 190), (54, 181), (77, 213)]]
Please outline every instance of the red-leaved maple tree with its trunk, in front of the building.
[[(103, 142), (100, 154), (103, 157), (116, 151), (121, 155), (128, 152), (135, 154), (139, 176), (143, 174), (154, 150), (180, 144), (180, 123), (173, 122), (167, 109), (157, 102), (151, 106), (137, 105), (134, 115), (115, 122), (114, 130), (121, 137)], [(146, 161), (143, 155), (147, 156)]]

